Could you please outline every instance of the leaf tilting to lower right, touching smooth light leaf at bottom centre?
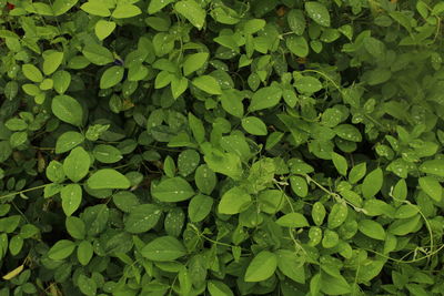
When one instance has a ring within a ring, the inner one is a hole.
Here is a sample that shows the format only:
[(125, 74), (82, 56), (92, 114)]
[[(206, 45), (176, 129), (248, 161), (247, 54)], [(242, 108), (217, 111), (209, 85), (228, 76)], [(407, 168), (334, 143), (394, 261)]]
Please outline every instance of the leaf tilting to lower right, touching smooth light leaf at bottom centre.
[(278, 249), (278, 268), (296, 283), (305, 284), (304, 261), (289, 249)]

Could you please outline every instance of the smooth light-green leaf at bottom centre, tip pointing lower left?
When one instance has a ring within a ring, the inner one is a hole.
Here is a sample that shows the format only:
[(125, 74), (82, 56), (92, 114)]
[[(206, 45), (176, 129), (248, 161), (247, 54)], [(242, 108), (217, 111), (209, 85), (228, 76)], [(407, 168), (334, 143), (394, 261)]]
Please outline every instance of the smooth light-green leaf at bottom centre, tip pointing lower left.
[(271, 277), (278, 267), (276, 255), (262, 251), (250, 263), (245, 272), (245, 282), (263, 282)]

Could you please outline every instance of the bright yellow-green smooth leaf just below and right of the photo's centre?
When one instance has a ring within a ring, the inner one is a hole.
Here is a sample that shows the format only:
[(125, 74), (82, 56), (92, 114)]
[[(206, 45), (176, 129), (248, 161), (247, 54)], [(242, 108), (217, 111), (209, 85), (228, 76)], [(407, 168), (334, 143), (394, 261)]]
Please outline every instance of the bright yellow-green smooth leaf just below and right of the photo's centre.
[(251, 196), (242, 187), (232, 187), (222, 195), (218, 211), (221, 214), (234, 215), (245, 210), (251, 202)]

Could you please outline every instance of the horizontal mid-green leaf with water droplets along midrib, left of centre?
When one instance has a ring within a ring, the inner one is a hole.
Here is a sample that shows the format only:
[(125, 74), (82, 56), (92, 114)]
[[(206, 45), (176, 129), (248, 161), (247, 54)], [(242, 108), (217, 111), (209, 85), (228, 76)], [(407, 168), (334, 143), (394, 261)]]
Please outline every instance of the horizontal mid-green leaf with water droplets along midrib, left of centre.
[(176, 203), (189, 200), (194, 195), (194, 190), (184, 178), (176, 176), (153, 185), (151, 194), (161, 202)]

